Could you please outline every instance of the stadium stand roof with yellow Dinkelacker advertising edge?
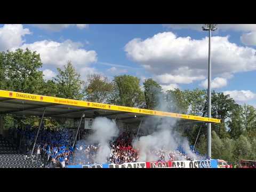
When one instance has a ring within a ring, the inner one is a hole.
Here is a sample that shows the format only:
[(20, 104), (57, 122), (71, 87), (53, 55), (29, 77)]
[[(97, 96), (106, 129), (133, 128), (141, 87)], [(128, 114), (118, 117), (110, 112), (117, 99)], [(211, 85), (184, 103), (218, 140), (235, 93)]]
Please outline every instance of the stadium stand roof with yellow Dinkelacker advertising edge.
[(143, 117), (154, 115), (220, 123), (220, 119), (215, 118), (0, 90), (0, 115), (41, 116), (44, 108), (45, 117), (79, 118), (85, 114), (85, 118), (103, 116), (116, 118), (124, 123), (133, 123)]

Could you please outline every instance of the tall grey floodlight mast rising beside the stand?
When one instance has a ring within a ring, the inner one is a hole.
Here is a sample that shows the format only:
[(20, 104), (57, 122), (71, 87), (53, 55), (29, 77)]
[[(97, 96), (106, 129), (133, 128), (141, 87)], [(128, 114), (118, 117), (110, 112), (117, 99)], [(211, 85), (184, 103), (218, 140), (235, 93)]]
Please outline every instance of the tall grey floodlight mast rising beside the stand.
[[(211, 63), (211, 31), (217, 30), (217, 24), (204, 24), (203, 30), (209, 31), (209, 53), (208, 53), (208, 117), (212, 117), (212, 90), (211, 90), (211, 76), (212, 76), (212, 63)], [(212, 124), (207, 124), (207, 158), (212, 157)]]

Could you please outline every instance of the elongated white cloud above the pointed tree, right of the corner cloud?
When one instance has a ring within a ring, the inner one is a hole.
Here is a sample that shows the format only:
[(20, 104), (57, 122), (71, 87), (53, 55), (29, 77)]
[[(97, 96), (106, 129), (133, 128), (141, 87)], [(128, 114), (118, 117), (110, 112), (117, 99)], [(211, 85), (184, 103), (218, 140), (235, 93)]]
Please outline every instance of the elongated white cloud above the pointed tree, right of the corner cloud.
[(37, 41), (31, 44), (23, 44), (21, 49), (36, 51), (40, 54), (42, 62), (45, 65), (61, 67), (71, 61), (76, 68), (89, 66), (97, 61), (97, 53), (95, 51), (86, 51), (81, 48), (81, 43), (67, 40), (63, 43), (55, 41)]

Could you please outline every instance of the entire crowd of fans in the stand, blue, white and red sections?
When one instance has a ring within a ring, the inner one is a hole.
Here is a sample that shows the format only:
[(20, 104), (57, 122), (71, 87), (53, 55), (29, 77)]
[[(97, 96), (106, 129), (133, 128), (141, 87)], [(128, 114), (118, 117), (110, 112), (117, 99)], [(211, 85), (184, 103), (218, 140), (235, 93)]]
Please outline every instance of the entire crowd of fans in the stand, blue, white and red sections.
[[(31, 153), (37, 129), (26, 127), (25, 130), (18, 130), (26, 141), (27, 152)], [(109, 143), (110, 154), (106, 163), (122, 164), (137, 162), (139, 151), (132, 147), (134, 134), (124, 132)], [(38, 161), (44, 162), (46, 167), (65, 167), (71, 164), (95, 164), (95, 156), (99, 150), (99, 143), (88, 145), (78, 142), (75, 148), (71, 147), (74, 141), (74, 132), (69, 129), (60, 129), (55, 131), (39, 131), (35, 153)], [(193, 160), (182, 149), (177, 149), (166, 153), (164, 150), (152, 150), (158, 161), (179, 161)], [(196, 153), (196, 151), (194, 151)], [(202, 159), (202, 157), (201, 157)]]

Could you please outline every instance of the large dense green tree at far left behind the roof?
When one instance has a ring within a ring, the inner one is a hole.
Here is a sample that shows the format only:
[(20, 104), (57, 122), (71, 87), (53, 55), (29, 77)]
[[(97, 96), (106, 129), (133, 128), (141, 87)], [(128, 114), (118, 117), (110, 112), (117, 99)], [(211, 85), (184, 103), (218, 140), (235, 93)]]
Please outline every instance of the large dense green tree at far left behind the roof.
[(25, 51), (17, 49), (15, 52), (2, 52), (1, 62), (4, 66), (6, 89), (26, 93), (40, 93), (43, 73), (38, 70), (42, 67), (39, 54), (28, 49)]

